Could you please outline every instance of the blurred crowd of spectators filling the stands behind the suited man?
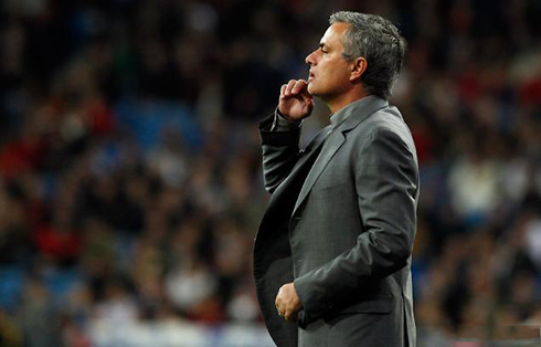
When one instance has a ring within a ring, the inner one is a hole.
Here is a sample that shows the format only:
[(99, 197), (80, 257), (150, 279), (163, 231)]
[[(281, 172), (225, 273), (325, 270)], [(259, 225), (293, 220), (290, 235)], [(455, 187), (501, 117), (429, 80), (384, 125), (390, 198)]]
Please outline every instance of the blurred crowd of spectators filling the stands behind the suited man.
[(0, 345), (261, 322), (257, 122), (343, 9), (409, 41), (391, 102), (421, 166), (421, 340), (541, 325), (541, 2), (4, 0)]

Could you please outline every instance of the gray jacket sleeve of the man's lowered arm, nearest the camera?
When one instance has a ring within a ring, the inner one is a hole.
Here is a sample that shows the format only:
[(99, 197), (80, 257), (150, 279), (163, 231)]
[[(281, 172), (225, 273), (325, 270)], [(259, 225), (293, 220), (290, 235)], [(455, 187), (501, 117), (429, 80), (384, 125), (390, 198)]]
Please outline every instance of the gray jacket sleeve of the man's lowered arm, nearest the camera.
[(418, 192), (414, 148), (395, 133), (379, 129), (353, 158), (364, 231), (352, 249), (295, 280), (303, 305), (300, 327), (321, 318), (341, 301), (359, 295), (374, 280), (405, 266), (412, 252)]

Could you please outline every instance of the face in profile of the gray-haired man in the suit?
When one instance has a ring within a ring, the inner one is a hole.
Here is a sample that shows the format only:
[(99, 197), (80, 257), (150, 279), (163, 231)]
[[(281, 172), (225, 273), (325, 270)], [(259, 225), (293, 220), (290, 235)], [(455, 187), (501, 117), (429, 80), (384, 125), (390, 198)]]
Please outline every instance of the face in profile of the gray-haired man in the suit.
[(321, 38), (319, 48), (306, 57), (310, 65), (308, 92), (325, 101), (339, 97), (351, 88), (351, 64), (342, 53), (342, 34), (347, 23), (333, 23)]

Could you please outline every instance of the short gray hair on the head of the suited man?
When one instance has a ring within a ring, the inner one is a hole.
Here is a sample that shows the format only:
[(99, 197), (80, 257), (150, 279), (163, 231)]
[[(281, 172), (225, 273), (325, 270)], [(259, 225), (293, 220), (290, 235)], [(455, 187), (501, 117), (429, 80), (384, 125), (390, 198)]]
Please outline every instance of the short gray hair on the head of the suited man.
[(368, 66), (361, 81), (370, 94), (388, 98), (399, 77), (407, 44), (396, 27), (376, 15), (349, 11), (332, 13), (329, 23), (347, 23), (342, 57), (352, 61), (363, 56)]

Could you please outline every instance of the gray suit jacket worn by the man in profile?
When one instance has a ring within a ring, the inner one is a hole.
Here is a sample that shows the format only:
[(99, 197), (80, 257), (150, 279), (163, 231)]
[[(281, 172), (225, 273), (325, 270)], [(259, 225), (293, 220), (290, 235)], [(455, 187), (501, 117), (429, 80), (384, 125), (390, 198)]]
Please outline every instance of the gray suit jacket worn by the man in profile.
[[(273, 196), (254, 246), (265, 324), (278, 346), (415, 346), (411, 252), (418, 167), (400, 112), (369, 96), (299, 150), (300, 129), (259, 125)], [(323, 143), (325, 139), (325, 143)], [(274, 306), (295, 283), (298, 323)]]

